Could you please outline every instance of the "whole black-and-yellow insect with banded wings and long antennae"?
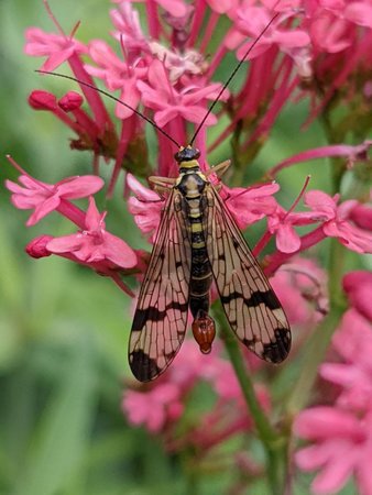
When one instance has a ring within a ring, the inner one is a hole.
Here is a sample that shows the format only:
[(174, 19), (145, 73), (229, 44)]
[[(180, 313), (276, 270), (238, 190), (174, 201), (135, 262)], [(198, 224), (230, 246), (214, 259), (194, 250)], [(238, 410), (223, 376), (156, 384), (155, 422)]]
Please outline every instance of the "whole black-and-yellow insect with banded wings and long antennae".
[(76, 80), (119, 101), (178, 146), (175, 154), (178, 177), (150, 177), (158, 193), (167, 194), (167, 199), (129, 341), (129, 364), (140, 382), (156, 378), (172, 363), (185, 338), (189, 310), (200, 351), (210, 352), (216, 334), (209, 315), (214, 280), (231, 329), (249, 350), (272, 363), (282, 362), (289, 352), (291, 330), (285, 312), (225, 206), (219, 187), (209, 180), (212, 173), (220, 178), (230, 162), (203, 173), (198, 163), (200, 153), (193, 146), (223, 90), (277, 15), (239, 62), (186, 146), (179, 146), (155, 122), (107, 91), (69, 76), (46, 73)]

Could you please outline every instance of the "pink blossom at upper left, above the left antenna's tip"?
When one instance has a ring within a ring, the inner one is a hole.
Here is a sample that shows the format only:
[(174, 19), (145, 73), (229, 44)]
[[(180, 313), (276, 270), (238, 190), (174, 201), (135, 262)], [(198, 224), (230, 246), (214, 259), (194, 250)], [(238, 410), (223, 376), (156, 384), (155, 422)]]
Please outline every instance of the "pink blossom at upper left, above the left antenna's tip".
[(63, 34), (46, 33), (39, 28), (29, 28), (25, 32), (25, 53), (34, 57), (46, 56), (42, 70), (54, 70), (74, 54), (87, 52), (83, 43)]

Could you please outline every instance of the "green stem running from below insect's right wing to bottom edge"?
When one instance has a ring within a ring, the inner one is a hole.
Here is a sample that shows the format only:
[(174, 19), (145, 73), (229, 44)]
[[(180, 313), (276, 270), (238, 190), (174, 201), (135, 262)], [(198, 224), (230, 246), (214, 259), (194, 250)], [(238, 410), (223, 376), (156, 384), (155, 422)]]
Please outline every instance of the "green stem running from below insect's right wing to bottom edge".
[(252, 416), (258, 436), (265, 450), (270, 492), (272, 495), (280, 495), (283, 493), (282, 488), (284, 486), (285, 441), (272, 427), (259, 403), (253, 382), (247, 374), (247, 367), (239, 348), (239, 343), (231, 333), (230, 328), (227, 326), (225, 316), (220, 308), (216, 308), (216, 318), (219, 323), (226, 350), (243, 393), (248, 410)]

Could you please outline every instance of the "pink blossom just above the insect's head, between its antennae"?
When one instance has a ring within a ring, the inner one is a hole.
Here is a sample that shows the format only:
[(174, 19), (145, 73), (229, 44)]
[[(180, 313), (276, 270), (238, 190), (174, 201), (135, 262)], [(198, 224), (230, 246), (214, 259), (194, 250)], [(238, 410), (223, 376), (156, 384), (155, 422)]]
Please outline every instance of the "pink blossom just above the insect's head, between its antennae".
[[(176, 117), (199, 123), (206, 114), (206, 108), (201, 102), (206, 98), (214, 99), (220, 88), (219, 84), (211, 84), (204, 88), (187, 86), (177, 91), (171, 86), (164, 65), (156, 59), (149, 68), (149, 82), (139, 80), (136, 86), (144, 105), (155, 110), (154, 120), (161, 128)], [(216, 123), (216, 116), (210, 114), (205, 124), (214, 123)]]

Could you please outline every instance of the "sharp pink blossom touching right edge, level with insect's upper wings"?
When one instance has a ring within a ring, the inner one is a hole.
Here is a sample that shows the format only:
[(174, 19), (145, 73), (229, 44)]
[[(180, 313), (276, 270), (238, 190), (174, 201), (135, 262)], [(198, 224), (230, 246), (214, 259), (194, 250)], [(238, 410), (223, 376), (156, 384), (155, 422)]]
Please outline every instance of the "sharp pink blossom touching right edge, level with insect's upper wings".
[(305, 195), (305, 205), (321, 220), (326, 235), (337, 238), (342, 244), (357, 253), (372, 253), (372, 234), (353, 226), (350, 211), (358, 204), (349, 200), (337, 206), (338, 196), (331, 198), (320, 190), (311, 190)]

